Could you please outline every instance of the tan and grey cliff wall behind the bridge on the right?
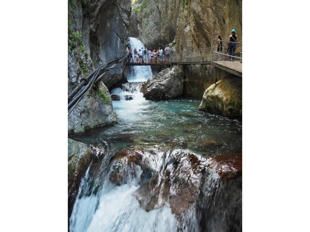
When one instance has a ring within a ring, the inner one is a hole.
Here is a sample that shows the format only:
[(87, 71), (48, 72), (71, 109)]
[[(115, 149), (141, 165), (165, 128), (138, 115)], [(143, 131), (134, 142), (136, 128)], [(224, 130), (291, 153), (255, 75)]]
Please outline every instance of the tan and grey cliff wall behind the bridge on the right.
[[(212, 9), (213, 39), (220, 34), (227, 40), (235, 29), (242, 40), (241, 0), (142, 0), (131, 12), (129, 36), (152, 49), (174, 40), (171, 47), (176, 52), (211, 47)], [(185, 95), (201, 98), (213, 83), (210, 67), (185, 66), (183, 71)]]

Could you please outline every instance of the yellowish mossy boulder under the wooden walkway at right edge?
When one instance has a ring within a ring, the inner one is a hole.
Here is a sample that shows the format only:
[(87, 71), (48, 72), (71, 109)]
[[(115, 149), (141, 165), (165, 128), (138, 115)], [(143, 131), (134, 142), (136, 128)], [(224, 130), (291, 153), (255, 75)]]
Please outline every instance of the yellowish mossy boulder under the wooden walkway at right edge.
[(242, 79), (227, 75), (206, 89), (199, 110), (223, 116), (242, 116)]

